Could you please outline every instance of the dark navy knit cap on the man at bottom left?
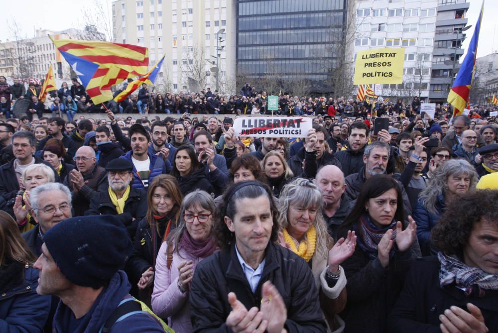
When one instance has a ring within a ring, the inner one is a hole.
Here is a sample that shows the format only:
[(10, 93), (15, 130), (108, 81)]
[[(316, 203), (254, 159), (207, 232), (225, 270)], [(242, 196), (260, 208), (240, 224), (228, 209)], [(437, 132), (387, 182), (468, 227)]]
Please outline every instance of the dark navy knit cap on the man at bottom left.
[(64, 220), (51, 227), (43, 241), (62, 274), (83, 287), (109, 283), (132, 252), (128, 231), (115, 215)]

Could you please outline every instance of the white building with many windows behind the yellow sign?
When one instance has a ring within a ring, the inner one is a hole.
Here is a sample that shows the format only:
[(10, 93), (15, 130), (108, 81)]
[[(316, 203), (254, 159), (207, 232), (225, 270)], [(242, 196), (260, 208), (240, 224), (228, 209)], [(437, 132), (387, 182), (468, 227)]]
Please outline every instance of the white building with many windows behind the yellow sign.
[(403, 82), (374, 85), (382, 97), (427, 101), (437, 0), (358, 0), (355, 53), (375, 48), (404, 48)]

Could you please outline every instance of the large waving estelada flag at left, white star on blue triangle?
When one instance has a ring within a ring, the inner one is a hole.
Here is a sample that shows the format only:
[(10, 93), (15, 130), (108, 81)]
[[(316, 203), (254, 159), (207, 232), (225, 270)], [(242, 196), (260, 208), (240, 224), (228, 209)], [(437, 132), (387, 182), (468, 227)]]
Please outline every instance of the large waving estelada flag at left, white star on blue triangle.
[(111, 86), (147, 73), (148, 49), (102, 41), (52, 40), (94, 104), (113, 99)]

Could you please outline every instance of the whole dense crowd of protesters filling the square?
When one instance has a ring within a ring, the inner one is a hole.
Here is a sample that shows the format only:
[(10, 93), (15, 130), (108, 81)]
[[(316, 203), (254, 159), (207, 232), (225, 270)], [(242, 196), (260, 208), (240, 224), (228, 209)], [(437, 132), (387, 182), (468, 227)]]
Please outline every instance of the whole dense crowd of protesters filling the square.
[(498, 332), (495, 117), (149, 101), (0, 120), (0, 332)]

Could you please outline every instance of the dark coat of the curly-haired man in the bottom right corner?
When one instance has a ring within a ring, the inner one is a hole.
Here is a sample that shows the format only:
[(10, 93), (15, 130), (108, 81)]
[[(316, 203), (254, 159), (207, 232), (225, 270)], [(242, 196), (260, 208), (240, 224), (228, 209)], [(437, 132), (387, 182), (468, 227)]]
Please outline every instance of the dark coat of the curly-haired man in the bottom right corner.
[(420, 258), (412, 263), (388, 318), (390, 332), (441, 332), (439, 315), (453, 305), (467, 311), (467, 303), (481, 309), (490, 332), (498, 332), (498, 290), (486, 290), (485, 297), (467, 297), (455, 284), (441, 288), (439, 269), (436, 256)]

